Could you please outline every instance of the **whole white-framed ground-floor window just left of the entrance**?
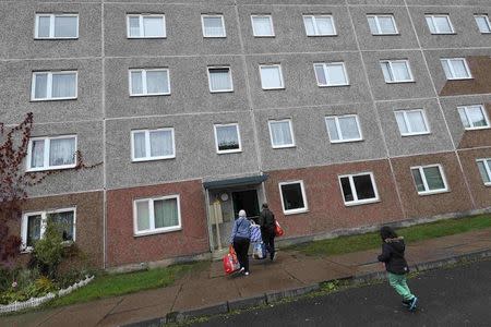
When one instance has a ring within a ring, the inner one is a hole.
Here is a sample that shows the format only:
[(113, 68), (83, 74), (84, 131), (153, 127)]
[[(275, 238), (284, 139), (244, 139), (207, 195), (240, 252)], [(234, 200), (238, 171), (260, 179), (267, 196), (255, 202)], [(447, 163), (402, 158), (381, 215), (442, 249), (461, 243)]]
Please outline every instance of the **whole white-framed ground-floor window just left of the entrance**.
[(146, 235), (181, 229), (179, 195), (135, 199), (134, 234)]

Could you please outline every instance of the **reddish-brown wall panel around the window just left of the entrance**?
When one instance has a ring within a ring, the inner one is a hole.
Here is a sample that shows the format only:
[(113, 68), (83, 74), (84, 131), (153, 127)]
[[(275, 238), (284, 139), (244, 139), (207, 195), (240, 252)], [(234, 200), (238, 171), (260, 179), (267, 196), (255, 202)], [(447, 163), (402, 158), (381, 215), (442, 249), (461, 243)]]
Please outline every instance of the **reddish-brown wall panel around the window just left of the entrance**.
[[(134, 237), (133, 201), (179, 194), (182, 229)], [(108, 266), (154, 262), (209, 251), (201, 181), (112, 190), (107, 192)]]

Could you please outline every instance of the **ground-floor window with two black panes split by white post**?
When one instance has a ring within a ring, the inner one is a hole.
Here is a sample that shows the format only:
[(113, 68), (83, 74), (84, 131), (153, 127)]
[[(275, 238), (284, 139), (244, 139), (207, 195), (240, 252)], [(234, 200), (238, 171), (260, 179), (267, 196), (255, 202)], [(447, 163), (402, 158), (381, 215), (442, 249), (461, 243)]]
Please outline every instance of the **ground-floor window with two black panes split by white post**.
[(346, 206), (379, 201), (375, 180), (371, 172), (340, 175), (339, 184)]

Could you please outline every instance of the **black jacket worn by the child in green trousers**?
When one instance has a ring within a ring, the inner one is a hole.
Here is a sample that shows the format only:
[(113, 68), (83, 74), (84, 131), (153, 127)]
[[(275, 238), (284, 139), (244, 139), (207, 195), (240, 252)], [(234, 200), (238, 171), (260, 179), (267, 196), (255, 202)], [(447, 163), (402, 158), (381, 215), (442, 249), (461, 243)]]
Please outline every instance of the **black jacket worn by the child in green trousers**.
[(404, 275), (409, 272), (409, 267), (404, 258), (404, 244), (403, 238), (386, 239), (382, 244), (382, 254), (379, 255), (379, 262), (385, 263), (385, 269), (388, 272), (396, 275)]

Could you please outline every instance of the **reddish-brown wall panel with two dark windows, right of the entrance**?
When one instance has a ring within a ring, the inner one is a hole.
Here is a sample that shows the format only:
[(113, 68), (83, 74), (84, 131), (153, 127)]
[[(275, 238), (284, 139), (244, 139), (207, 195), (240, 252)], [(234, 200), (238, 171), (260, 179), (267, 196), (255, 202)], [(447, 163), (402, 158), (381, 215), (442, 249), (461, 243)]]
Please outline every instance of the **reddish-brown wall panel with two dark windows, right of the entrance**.
[[(373, 172), (380, 202), (347, 207), (338, 175)], [(268, 171), (267, 199), (287, 237), (323, 233), (343, 228), (370, 226), (404, 219), (387, 160), (333, 165), (295, 170)], [(284, 215), (279, 182), (303, 180), (309, 211)]]

